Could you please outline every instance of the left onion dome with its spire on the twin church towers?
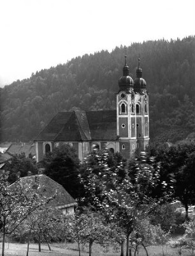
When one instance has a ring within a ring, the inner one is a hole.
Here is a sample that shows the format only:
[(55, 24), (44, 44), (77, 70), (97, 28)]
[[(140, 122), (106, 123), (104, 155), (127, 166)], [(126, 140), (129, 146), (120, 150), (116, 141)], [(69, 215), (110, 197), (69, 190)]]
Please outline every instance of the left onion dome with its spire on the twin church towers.
[(129, 76), (129, 66), (127, 65), (127, 56), (125, 56), (125, 65), (122, 69), (123, 76), (119, 79), (119, 92), (126, 91), (129, 92), (130, 88), (133, 88), (133, 78)]

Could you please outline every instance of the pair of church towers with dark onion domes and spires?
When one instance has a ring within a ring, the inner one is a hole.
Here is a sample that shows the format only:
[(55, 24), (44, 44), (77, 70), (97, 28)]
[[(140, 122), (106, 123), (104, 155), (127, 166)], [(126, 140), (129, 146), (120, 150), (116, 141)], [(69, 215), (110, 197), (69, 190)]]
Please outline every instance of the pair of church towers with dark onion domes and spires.
[(129, 159), (136, 148), (141, 151), (149, 141), (148, 125), (148, 92), (146, 82), (142, 78), (140, 59), (136, 69), (136, 79), (129, 76), (127, 56), (123, 76), (119, 79), (119, 92), (117, 93), (117, 137), (119, 138), (119, 151)]

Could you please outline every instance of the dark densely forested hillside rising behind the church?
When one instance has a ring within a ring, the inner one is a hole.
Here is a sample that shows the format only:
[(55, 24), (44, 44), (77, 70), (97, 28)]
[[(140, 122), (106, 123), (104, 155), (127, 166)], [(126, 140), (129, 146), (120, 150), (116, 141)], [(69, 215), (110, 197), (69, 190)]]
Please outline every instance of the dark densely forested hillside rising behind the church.
[[(195, 37), (127, 47), (133, 78), (138, 56), (150, 93), (151, 140), (195, 132)], [(115, 109), (124, 47), (77, 57), (1, 88), (1, 141), (29, 141), (60, 110)]]

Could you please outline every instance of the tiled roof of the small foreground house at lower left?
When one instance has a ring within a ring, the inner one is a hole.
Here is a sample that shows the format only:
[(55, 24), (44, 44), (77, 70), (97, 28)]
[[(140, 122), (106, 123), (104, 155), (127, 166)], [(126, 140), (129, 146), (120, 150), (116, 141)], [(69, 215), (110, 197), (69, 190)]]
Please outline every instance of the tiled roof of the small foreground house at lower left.
[[(38, 194), (45, 196), (45, 198), (50, 198), (56, 193), (54, 199), (48, 202), (49, 206), (62, 209), (77, 205), (74, 198), (69, 195), (64, 187), (55, 182), (55, 180), (50, 179), (50, 177), (47, 177), (45, 174), (22, 177), (20, 178), (20, 182), (30, 184), (31, 188), (37, 184), (38, 187), (36, 187), (36, 189)], [(11, 184), (11, 186), (14, 186), (14, 183)]]

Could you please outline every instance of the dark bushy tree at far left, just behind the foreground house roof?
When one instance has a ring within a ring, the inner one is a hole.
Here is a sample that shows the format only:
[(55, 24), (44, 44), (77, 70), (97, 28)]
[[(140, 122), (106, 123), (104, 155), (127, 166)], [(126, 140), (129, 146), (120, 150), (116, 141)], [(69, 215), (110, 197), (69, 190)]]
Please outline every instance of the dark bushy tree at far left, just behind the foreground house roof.
[(18, 177), (35, 175), (38, 173), (36, 161), (32, 157), (26, 157), (24, 153), (15, 154), (4, 166), (5, 172), (8, 172), (8, 182), (15, 182)]

